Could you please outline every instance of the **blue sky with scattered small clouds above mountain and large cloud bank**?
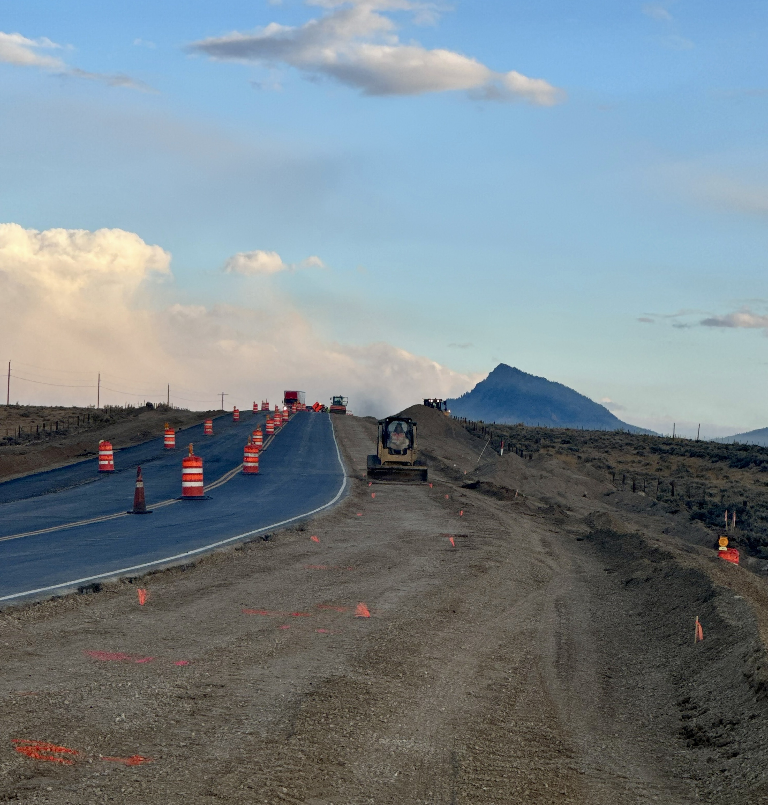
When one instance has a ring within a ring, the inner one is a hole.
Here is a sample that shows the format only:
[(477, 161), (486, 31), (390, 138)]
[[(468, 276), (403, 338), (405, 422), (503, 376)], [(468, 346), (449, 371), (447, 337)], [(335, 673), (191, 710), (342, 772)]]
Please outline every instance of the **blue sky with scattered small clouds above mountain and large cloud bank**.
[[(307, 23), (347, 12), (380, 30), (329, 65)], [(161, 246), (133, 307), (269, 300), (451, 393), (504, 361), (655, 429), (768, 424), (764, 4), (6, 0), (0, 31), (0, 221)]]

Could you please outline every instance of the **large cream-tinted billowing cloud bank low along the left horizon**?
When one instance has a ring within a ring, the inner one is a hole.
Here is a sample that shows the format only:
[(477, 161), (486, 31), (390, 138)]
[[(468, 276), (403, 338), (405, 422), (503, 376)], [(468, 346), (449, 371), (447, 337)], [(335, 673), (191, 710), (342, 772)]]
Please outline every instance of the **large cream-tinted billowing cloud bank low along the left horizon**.
[(68, 387), (84, 375), (66, 373), (88, 371), (95, 385), (101, 371), (102, 403), (164, 399), (170, 383), (181, 407), (216, 407), (224, 390), (243, 408), (298, 387), (312, 401), (341, 392), (355, 413), (384, 415), (422, 397), (458, 396), (480, 379), (386, 343), (324, 340), (280, 300), (161, 308), (158, 279), (170, 281), (170, 254), (137, 234), (0, 225), (0, 358), (22, 366), (13, 398), (95, 403), (95, 390)]

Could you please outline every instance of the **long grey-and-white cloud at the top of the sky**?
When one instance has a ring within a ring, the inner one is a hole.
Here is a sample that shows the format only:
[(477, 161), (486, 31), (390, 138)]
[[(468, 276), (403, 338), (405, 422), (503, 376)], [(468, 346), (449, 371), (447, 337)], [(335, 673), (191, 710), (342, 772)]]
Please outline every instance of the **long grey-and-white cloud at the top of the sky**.
[(310, 76), (328, 76), (366, 95), (421, 95), (468, 90), (491, 100), (553, 105), (562, 93), (540, 78), (495, 72), (478, 60), (443, 48), (404, 44), (388, 10), (409, 10), (417, 21), (433, 19), (434, 6), (407, 0), (315, 2), (330, 13), (300, 27), (279, 23), (252, 33), (192, 43), (191, 52), (215, 60), (288, 64)]

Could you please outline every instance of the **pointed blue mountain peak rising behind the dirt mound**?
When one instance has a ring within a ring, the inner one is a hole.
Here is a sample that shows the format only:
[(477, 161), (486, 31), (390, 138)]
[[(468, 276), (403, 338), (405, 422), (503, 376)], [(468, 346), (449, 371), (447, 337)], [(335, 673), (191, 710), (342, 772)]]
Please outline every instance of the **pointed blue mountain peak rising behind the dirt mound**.
[(562, 383), (537, 378), (505, 363), (500, 363), (471, 391), (449, 400), (448, 407), (453, 416), (483, 422), (651, 433), (622, 422), (605, 406)]

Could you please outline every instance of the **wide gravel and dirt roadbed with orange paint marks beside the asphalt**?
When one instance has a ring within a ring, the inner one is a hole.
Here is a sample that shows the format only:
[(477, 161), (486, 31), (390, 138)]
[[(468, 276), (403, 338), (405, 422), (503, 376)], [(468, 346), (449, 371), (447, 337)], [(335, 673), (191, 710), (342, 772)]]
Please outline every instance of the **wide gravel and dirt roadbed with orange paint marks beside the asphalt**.
[(558, 506), (462, 489), (477, 440), (421, 416), (432, 487), (369, 486), (375, 423), (339, 417), (327, 516), (6, 609), (0, 801), (768, 801), (753, 580), (585, 525), (573, 478)]

